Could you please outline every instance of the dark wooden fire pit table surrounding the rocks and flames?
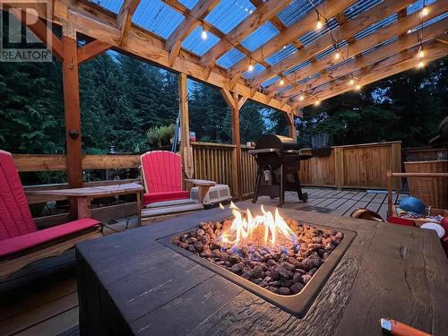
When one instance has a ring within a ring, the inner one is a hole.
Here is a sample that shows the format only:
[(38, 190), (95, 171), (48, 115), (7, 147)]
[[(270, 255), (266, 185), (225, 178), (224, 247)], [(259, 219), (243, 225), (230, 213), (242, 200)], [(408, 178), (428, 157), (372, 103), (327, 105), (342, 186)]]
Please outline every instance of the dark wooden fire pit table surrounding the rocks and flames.
[(81, 335), (381, 335), (382, 317), (448, 335), (448, 262), (432, 230), (282, 209), (286, 221), (343, 234), (286, 296), (171, 244), (230, 215), (202, 211), (78, 244)]

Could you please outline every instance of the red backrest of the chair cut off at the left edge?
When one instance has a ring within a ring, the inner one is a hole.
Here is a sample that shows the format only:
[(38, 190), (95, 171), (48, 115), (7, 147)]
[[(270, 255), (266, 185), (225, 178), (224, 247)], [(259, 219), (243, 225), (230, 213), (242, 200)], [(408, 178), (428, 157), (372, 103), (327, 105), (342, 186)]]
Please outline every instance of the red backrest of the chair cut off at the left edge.
[(0, 240), (37, 231), (13, 156), (0, 151)]

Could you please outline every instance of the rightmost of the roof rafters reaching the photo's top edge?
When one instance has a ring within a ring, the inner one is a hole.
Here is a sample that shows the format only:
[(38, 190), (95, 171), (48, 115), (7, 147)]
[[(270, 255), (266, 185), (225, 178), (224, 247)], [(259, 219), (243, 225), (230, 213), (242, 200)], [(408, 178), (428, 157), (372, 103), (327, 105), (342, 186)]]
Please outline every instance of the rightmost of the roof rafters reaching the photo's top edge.
[[(280, 63), (266, 68), (263, 73), (259, 73), (254, 78), (251, 85), (255, 87), (260, 86), (263, 82), (275, 77), (278, 73), (287, 71), (293, 66), (319, 54), (328, 47), (332, 47), (334, 42), (339, 43), (342, 40), (353, 37), (353, 35), (357, 32), (370, 27), (383, 17), (387, 17), (397, 11), (400, 11), (402, 8), (406, 8), (409, 4), (412, 4), (412, 2), (412, 0), (387, 0), (383, 1), (381, 4), (375, 5), (368, 11), (360, 13), (357, 18), (344, 22), (340, 27), (332, 30), (332, 34), (325, 34), (319, 39), (314, 40), (314, 42), (308, 47), (304, 47), (301, 52), (292, 54), (291, 56), (283, 59)], [(355, 44), (355, 42), (352, 44)], [(342, 56), (346, 56), (343, 52), (341, 54)]]

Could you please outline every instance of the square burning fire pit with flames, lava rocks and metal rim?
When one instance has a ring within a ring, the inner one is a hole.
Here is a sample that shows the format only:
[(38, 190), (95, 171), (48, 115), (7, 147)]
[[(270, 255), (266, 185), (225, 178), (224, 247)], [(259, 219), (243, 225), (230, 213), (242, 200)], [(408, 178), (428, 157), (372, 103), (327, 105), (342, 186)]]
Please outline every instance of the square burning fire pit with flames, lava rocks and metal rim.
[(297, 316), (328, 279), (355, 233), (317, 228), (264, 211), (201, 223), (164, 244)]

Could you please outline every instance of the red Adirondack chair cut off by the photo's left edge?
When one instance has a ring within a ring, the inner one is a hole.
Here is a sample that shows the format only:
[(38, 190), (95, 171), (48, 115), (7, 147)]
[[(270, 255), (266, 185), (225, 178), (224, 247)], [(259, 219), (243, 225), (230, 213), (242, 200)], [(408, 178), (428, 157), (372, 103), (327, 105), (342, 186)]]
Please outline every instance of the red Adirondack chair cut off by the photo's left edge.
[(29, 263), (57, 256), (82, 240), (101, 236), (99, 224), (98, 220), (82, 219), (38, 230), (13, 156), (0, 151), (0, 281)]

